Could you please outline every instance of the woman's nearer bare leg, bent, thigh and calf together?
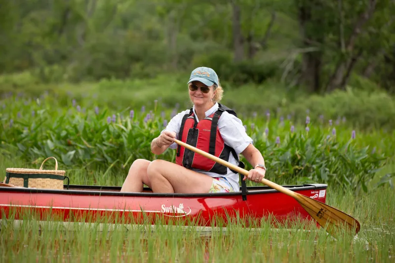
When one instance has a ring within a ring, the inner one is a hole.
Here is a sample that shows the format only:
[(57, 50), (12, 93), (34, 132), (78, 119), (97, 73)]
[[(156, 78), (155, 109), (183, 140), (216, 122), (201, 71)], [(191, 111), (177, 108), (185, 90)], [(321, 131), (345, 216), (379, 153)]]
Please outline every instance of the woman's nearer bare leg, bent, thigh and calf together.
[(154, 160), (147, 169), (154, 192), (207, 193), (212, 177), (165, 160)]

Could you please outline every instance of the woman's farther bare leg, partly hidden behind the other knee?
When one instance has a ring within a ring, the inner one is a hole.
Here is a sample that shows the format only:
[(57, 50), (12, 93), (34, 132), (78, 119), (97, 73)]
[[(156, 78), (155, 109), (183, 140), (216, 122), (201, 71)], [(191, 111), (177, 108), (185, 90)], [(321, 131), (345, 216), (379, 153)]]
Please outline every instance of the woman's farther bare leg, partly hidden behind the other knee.
[(137, 159), (130, 166), (129, 173), (123, 182), (121, 192), (142, 192), (143, 184), (151, 188), (151, 181), (147, 175), (147, 168), (150, 161), (145, 159)]

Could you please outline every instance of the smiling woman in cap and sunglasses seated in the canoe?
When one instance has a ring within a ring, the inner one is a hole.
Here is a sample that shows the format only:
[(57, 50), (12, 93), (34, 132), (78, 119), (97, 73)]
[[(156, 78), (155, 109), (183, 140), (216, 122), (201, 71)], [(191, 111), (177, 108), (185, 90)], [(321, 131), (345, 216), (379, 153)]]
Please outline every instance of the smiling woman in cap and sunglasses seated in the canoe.
[(239, 165), (241, 153), (252, 164), (243, 180), (259, 182), (265, 177), (265, 161), (252, 145), (252, 139), (236, 113), (220, 105), (222, 87), (214, 70), (199, 67), (188, 81), (189, 97), (194, 106), (178, 113), (151, 143), (154, 154), (167, 148), (177, 149), (176, 163), (165, 160), (137, 159), (130, 166), (123, 192), (141, 192), (143, 184), (153, 192), (208, 193), (238, 191), (238, 174), (229, 168), (174, 143), (186, 142), (198, 149)]

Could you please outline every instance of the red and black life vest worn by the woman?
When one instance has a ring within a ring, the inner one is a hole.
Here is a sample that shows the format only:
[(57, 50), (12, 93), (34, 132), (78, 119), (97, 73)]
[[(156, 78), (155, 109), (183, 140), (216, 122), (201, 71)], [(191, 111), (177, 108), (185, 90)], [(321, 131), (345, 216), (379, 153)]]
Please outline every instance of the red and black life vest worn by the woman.
[[(235, 116), (237, 115), (233, 110), (221, 104), (219, 106), (215, 113), (212, 113), (199, 122), (197, 122), (195, 113), (191, 109), (190, 113), (185, 114), (182, 119), (178, 138), (186, 144), (204, 150), (225, 161), (229, 160), (230, 153), (232, 152), (235, 159), (239, 161), (236, 151), (225, 144), (218, 128), (218, 120), (223, 112), (227, 111)], [(177, 148), (176, 164), (188, 169), (197, 168), (221, 175), (227, 174), (226, 166), (181, 146)], [(237, 173), (236, 171), (233, 172)]]

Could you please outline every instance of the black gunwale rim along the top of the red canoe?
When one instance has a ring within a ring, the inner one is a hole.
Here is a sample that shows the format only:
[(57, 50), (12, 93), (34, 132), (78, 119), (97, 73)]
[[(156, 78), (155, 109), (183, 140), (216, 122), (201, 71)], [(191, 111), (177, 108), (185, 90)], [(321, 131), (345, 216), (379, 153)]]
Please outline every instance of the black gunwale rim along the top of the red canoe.
[[(80, 186), (70, 185), (70, 188), (81, 188), (81, 189), (39, 189), (39, 188), (8, 188), (0, 187), (0, 192), (21, 192), (21, 193), (56, 193), (56, 194), (68, 194), (68, 195), (110, 195), (110, 196), (146, 196), (146, 197), (217, 197), (217, 196), (241, 196), (241, 188), (238, 192), (229, 193), (152, 193), (152, 192), (119, 192), (120, 187), (106, 187), (106, 186)], [(326, 189), (326, 184), (305, 184), (298, 186), (283, 186), (291, 191), (300, 190), (318, 190)], [(97, 190), (86, 190), (86, 189), (97, 189)], [(100, 190), (103, 189), (103, 190)], [(106, 190), (107, 189), (107, 190)], [(118, 191), (111, 191), (111, 189), (118, 189)], [(149, 190), (150, 188), (144, 188)], [(276, 189), (269, 188), (267, 186), (247, 187), (247, 195), (253, 194), (265, 194), (279, 192)]]

